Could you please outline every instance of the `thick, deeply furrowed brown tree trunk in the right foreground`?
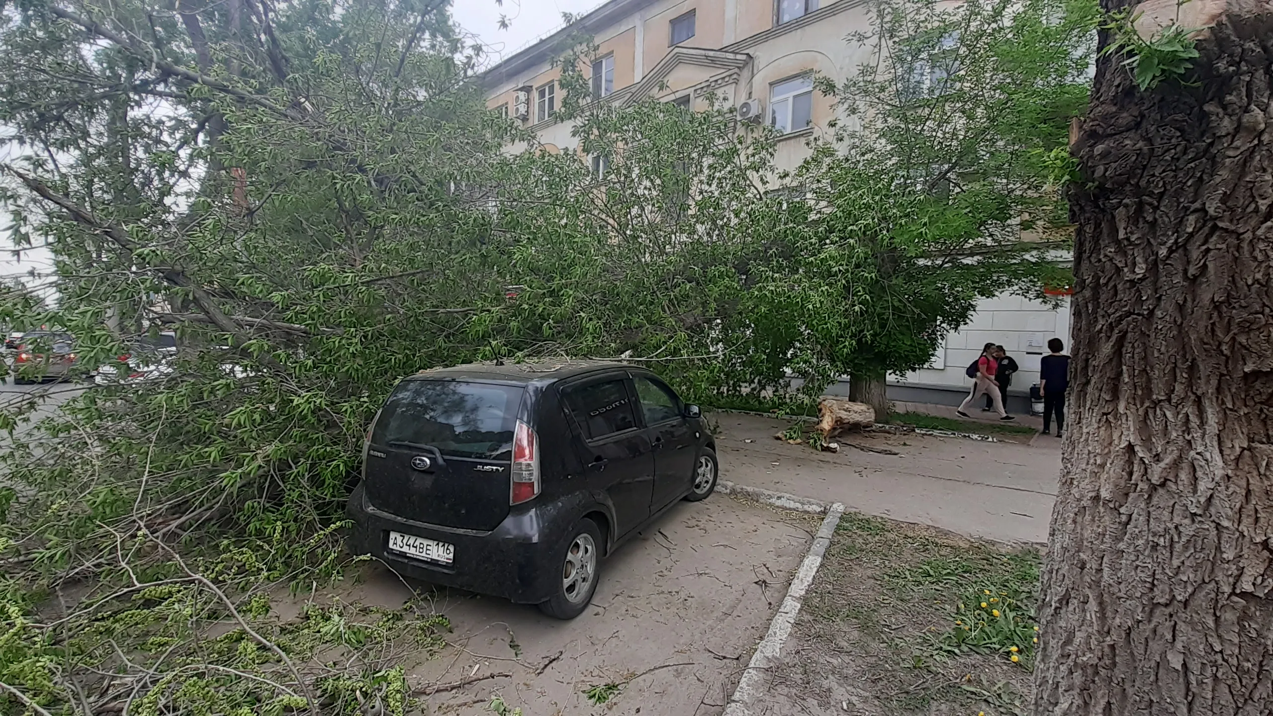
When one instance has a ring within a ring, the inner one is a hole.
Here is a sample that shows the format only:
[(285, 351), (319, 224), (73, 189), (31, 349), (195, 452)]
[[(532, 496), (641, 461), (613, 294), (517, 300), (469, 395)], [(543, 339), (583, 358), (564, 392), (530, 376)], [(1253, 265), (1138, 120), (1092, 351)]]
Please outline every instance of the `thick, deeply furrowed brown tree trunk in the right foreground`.
[(1239, 1), (1189, 84), (1102, 56), (1074, 136), (1037, 716), (1273, 710), (1273, 4)]

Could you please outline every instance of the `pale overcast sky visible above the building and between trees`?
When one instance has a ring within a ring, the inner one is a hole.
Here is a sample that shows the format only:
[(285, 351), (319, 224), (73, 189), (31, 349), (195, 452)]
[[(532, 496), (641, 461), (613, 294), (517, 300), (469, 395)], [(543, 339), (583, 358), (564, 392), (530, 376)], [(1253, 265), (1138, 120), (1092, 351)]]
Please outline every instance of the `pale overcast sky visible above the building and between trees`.
[[(486, 47), (486, 61), (495, 64), (560, 29), (561, 13), (580, 14), (602, 3), (603, 0), (503, 0), (502, 6), (498, 0), (453, 0), (451, 14), (456, 24)], [(500, 15), (508, 19), (508, 29), (499, 28)], [(0, 161), (8, 159), (10, 150), (10, 147), (0, 143)], [(47, 251), (24, 251), (19, 259), (14, 256), (8, 238), (4, 218), (0, 217), (0, 276), (25, 278), (32, 269), (37, 273), (52, 269), (52, 257)]]

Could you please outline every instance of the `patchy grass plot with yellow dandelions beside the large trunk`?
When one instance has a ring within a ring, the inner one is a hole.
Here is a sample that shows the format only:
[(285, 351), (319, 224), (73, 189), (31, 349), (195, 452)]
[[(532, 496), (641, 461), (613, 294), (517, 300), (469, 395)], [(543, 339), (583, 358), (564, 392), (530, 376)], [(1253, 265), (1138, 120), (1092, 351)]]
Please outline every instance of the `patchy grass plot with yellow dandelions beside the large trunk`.
[[(1030, 549), (845, 513), (761, 712), (1025, 713), (1037, 564)], [(987, 609), (969, 617), (980, 600)]]

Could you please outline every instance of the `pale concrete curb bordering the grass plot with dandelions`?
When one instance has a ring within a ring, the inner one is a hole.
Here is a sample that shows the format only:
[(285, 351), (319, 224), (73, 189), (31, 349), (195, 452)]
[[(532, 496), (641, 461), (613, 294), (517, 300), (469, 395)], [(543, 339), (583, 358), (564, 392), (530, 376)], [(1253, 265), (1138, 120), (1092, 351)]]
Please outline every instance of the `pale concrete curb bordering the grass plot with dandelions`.
[[(717, 489), (719, 489), (719, 487), (721, 485), (718, 485)], [(791, 501), (797, 505), (825, 505), (812, 499), (803, 499), (789, 494), (769, 492), (766, 489), (743, 488), (733, 484), (722, 492), (727, 494), (749, 494), (761, 499), (764, 499), (764, 497), (757, 493), (768, 493), (770, 497), (775, 497), (777, 499)], [(765, 499), (765, 502), (788, 507), (788, 505), (770, 499)], [(799, 507), (794, 508), (799, 510)], [(817, 511), (822, 512), (822, 510)], [(729, 697), (729, 703), (726, 706), (724, 716), (752, 716), (756, 713), (754, 708), (761, 705), (761, 699), (765, 696), (765, 677), (778, 665), (778, 657), (782, 654), (783, 645), (787, 643), (787, 637), (791, 636), (792, 626), (796, 623), (796, 617), (799, 614), (799, 606), (805, 599), (805, 592), (807, 592), (810, 585), (813, 584), (817, 568), (822, 566), (822, 555), (826, 553), (827, 545), (831, 544), (831, 535), (835, 534), (835, 526), (840, 524), (840, 516), (844, 515), (844, 506), (836, 502), (830, 507), (825, 507), (825, 511), (826, 519), (822, 520), (822, 526), (817, 530), (817, 535), (813, 536), (813, 544), (810, 545), (808, 554), (805, 555), (805, 561), (801, 562), (799, 569), (796, 571), (796, 577), (792, 578), (792, 586), (788, 587), (787, 598), (783, 599), (782, 606), (778, 608), (778, 614), (775, 614), (774, 620), (769, 623), (769, 633), (766, 633), (765, 638), (760, 640), (760, 643), (756, 645), (756, 652), (751, 655), (751, 661), (742, 671), (742, 678), (738, 679), (738, 688), (733, 689), (733, 696)]]

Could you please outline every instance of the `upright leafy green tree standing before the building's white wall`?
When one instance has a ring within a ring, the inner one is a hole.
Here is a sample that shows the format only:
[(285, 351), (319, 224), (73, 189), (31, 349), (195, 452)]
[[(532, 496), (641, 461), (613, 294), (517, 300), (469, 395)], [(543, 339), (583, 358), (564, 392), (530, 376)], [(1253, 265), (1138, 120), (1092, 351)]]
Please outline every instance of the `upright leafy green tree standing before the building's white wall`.
[(850, 38), (873, 61), (820, 83), (847, 121), (785, 178), (802, 231), (763, 288), (799, 316), (773, 339), (808, 390), (848, 373), (886, 414), (886, 373), (927, 364), (978, 298), (1067, 283), (1055, 157), (1086, 103), (1095, 20), (1086, 0), (899, 1)]

